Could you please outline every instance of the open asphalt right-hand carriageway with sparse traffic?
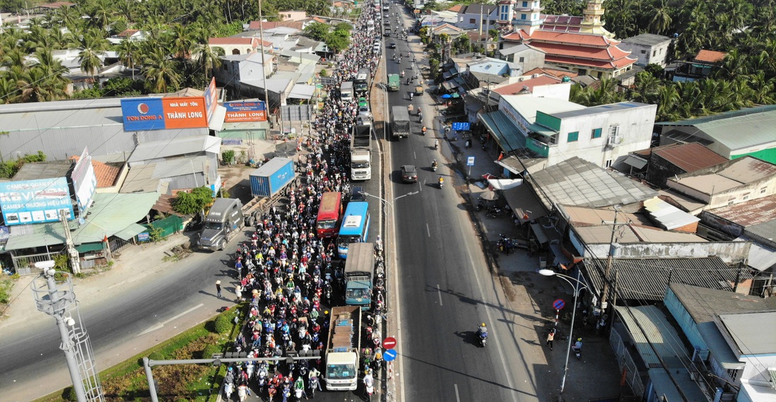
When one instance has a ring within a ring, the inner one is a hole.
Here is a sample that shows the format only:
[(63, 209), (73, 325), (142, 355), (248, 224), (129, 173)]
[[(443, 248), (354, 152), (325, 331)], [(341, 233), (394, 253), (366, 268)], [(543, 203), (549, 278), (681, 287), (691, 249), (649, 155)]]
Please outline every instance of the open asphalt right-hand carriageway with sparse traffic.
[[(396, 30), (392, 5), (391, 21)], [(404, 9), (402, 14), (407, 16)], [(417, 41), (417, 36), (410, 40)], [(397, 54), (410, 47), (395, 37)], [(386, 49), (386, 52), (393, 50)], [(389, 53), (390, 54), (390, 53)], [(417, 60), (425, 57), (416, 54)], [(414, 75), (410, 61), (402, 63), (386, 57), (387, 74)], [(417, 64), (414, 66), (417, 70)], [(421, 78), (422, 79), (422, 78)], [(390, 92), (390, 106), (407, 106), (407, 92), (413, 85)], [(428, 85), (424, 85), (428, 90)], [(432, 127), (431, 99), (428, 92), (415, 96), (414, 108), (424, 110), (424, 123)], [(471, 219), (453, 185), (462, 185), (454, 172), (433, 148), (437, 133), (421, 135), (421, 123), (414, 113), (413, 133), (407, 139), (391, 142), (393, 195), (411, 191), (419, 194), (395, 203), (396, 248), (400, 304), (400, 359), (403, 393), (406, 400), (539, 400), (530, 358), (521, 354), (515, 338), (514, 316), (507, 307), (501, 285), (490, 275)], [(443, 142), (440, 138), (440, 142)], [(431, 161), (439, 162), (437, 172)], [(398, 169), (415, 165), (418, 182), (404, 184)], [(438, 177), (445, 178), (440, 189)], [(482, 348), (476, 327), (487, 323), (487, 347)]]

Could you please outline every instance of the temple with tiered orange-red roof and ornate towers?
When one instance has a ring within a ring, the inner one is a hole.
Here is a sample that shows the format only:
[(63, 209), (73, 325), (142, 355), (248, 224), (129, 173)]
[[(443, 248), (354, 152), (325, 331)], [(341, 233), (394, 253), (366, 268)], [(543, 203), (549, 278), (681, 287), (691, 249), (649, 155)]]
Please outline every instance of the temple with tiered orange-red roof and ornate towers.
[(604, 29), (602, 0), (589, 0), (584, 16), (543, 15), (539, 0), (518, 0), (513, 32), (501, 36), (501, 48), (520, 43), (546, 53), (545, 63), (579, 75), (612, 78), (630, 71), (636, 57), (620, 49), (619, 40)]

